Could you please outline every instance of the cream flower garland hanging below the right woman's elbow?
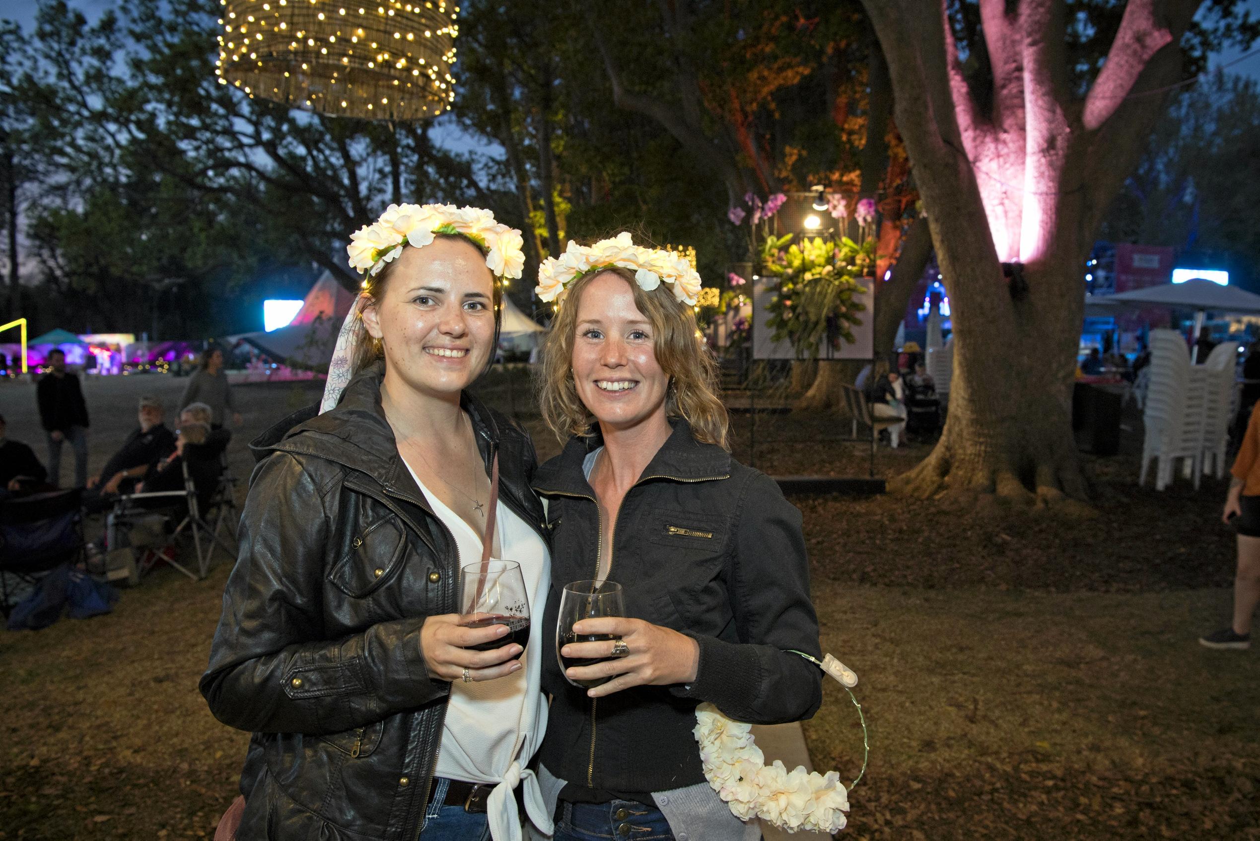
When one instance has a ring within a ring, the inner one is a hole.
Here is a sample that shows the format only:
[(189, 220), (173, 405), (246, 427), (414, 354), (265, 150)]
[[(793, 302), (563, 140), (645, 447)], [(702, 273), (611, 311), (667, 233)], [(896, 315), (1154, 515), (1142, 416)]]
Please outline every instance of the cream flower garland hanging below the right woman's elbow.
[(788, 832), (825, 832), (844, 828), (848, 793), (834, 770), (827, 774), (793, 770), (766, 758), (752, 740), (752, 725), (732, 721), (712, 704), (696, 707), (696, 740), (709, 786), (741, 821), (757, 817)]

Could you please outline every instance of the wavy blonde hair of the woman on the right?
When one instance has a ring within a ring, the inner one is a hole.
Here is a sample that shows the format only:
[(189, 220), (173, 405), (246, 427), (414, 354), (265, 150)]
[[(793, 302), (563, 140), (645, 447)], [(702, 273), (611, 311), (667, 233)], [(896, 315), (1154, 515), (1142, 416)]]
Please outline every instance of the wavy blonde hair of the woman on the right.
[(682, 417), (690, 424), (692, 434), (698, 441), (730, 449), (726, 444), (726, 406), (718, 400), (716, 390), (717, 362), (696, 334), (696, 313), (674, 299), (668, 284), (660, 284), (650, 293), (645, 291), (635, 282), (634, 275), (620, 266), (580, 277), (570, 286), (556, 313), (556, 320), (543, 344), (538, 374), (538, 403), (547, 426), (561, 443), (573, 435), (591, 434), (595, 416), (577, 396), (577, 386), (573, 383), (577, 304), (592, 280), (610, 272), (630, 284), (635, 306), (651, 322), (653, 352), (656, 363), (669, 377), (665, 415)]

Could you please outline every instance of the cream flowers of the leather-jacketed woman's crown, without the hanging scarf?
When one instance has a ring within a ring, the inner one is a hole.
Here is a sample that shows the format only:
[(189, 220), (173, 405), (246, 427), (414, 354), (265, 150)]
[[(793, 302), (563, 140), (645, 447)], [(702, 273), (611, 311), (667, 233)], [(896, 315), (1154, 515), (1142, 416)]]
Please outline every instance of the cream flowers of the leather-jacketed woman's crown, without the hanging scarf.
[(375, 275), (402, 253), (404, 245), (423, 248), (438, 233), (462, 233), (481, 246), (496, 277), (520, 277), (525, 265), (520, 231), (495, 221), (490, 211), (454, 204), (391, 204), (381, 218), (350, 235), (350, 267)]

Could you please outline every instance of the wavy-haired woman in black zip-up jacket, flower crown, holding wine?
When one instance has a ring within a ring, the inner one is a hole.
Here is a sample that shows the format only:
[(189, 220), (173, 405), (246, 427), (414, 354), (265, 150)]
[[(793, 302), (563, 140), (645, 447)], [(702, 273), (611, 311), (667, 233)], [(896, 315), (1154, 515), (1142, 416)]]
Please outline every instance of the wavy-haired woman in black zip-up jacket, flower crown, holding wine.
[(577, 580), (619, 583), (626, 614), (573, 627), (612, 638), (558, 652), (593, 664), (543, 662), (539, 775), (557, 841), (760, 837), (706, 779), (697, 706), (767, 724), (809, 717), (822, 700), (800, 656), (819, 656), (800, 512), (726, 450), (692, 310), (699, 286), (684, 260), (627, 233), (571, 242), (539, 272), (539, 296), (561, 300), (541, 402), (567, 439), (533, 482), (552, 528), (543, 625), (553, 632)]

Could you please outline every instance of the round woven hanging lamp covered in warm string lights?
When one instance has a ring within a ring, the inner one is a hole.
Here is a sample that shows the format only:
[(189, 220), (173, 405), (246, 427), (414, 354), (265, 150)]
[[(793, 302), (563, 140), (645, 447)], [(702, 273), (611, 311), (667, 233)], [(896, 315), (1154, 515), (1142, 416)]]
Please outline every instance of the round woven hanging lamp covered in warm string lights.
[(451, 107), (460, 9), (447, 0), (219, 3), (220, 84), (365, 120), (423, 120)]

